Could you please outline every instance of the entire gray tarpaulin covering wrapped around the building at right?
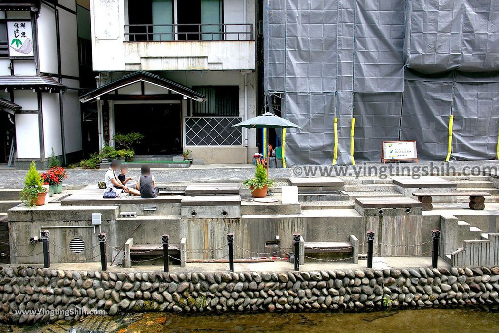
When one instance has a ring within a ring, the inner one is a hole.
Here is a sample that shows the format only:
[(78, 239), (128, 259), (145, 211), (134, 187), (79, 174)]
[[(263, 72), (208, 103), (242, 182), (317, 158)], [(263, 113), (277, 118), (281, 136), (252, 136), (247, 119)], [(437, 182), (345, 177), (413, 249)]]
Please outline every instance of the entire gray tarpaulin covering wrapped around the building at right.
[(394, 138), (445, 159), (451, 112), (452, 158), (494, 158), (498, 0), (265, 0), (263, 10), (265, 93), (281, 93), (284, 116), (303, 126), (286, 136), (289, 165), (331, 163), (334, 117), (337, 162), (351, 163), (353, 115), (359, 160), (378, 161), (379, 141)]

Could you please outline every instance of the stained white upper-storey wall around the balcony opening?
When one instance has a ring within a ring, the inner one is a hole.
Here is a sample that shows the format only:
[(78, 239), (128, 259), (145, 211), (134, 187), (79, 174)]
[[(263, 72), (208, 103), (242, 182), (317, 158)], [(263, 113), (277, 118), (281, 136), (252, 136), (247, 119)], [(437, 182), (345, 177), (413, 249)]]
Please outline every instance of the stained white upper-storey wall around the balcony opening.
[[(254, 24), (254, 1), (247, 2), (247, 22)], [(90, 4), (94, 70), (255, 69), (254, 41), (125, 42), (126, 3), (94, 0)]]

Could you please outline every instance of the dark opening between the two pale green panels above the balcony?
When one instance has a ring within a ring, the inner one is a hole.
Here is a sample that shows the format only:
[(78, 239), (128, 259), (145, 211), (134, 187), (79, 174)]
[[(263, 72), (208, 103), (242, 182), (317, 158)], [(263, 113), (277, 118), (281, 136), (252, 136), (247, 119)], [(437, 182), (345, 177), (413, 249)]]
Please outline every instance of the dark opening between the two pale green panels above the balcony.
[[(201, 40), (201, 0), (177, 1), (179, 40)], [(194, 24), (194, 25), (182, 25)]]

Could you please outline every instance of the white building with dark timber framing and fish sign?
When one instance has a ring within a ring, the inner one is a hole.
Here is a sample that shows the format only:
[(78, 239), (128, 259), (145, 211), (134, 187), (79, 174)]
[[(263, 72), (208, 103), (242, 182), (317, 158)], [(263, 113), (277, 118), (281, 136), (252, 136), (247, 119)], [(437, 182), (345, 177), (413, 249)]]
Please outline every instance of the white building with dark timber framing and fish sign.
[(80, 159), (76, 7), (0, 2), (0, 163), (46, 165), (52, 149), (62, 160)]

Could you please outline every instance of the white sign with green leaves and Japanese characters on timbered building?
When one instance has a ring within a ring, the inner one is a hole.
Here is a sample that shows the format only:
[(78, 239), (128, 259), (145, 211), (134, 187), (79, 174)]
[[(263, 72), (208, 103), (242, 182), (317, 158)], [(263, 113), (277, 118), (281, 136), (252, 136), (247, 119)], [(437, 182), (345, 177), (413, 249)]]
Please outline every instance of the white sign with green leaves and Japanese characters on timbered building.
[(8, 55), (33, 56), (31, 21), (7, 22)]

